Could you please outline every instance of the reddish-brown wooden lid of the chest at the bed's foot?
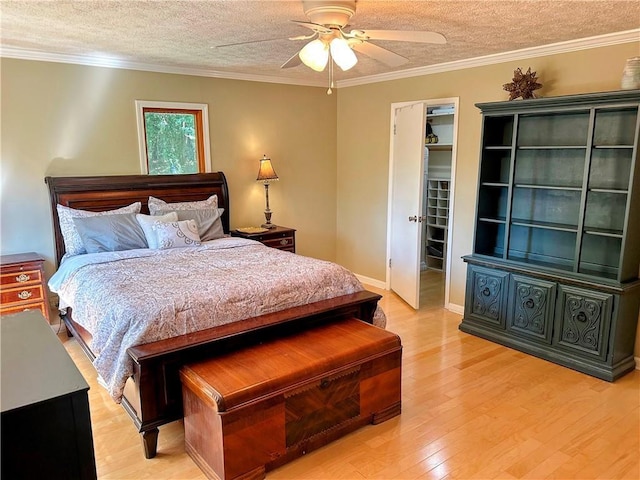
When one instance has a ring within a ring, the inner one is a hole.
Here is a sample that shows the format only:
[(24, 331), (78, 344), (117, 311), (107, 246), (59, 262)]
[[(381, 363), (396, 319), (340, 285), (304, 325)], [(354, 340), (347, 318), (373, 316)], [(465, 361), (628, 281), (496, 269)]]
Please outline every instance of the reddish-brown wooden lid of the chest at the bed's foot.
[(351, 318), (187, 365), (180, 377), (223, 412), (401, 348), (396, 334)]

